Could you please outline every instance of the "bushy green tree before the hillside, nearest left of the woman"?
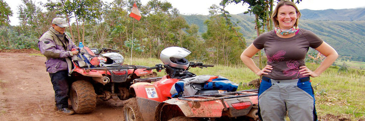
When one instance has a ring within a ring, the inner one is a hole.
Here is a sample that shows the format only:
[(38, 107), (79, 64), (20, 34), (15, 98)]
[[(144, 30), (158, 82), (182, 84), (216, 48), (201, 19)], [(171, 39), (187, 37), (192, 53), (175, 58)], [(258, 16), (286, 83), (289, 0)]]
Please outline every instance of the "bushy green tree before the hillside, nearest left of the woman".
[(236, 36), (234, 29), (230, 29), (230, 26), (226, 24), (226, 20), (222, 16), (223, 12), (219, 11), (217, 5), (210, 7), (210, 13), (210, 19), (204, 22), (208, 30), (203, 33), (202, 37), (205, 40), (205, 45), (208, 45), (208, 48), (213, 51), (211, 53), (213, 62), (224, 65), (240, 62), (237, 55), (244, 48), (240, 47), (242, 43)]

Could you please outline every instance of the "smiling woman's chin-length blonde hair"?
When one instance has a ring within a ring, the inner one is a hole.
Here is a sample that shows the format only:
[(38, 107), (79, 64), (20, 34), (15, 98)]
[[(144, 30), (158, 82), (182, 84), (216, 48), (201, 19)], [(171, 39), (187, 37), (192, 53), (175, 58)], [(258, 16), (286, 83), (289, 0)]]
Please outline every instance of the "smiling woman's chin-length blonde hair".
[(290, 6), (292, 6), (292, 7), (294, 7), (295, 8), (295, 10), (296, 10), (296, 14), (299, 14), (299, 17), (297, 17), (297, 20), (296, 20), (296, 22), (295, 22), (295, 24), (294, 25), (298, 25), (298, 23), (299, 23), (299, 18), (300, 18), (300, 12), (299, 12), (299, 9), (298, 9), (298, 7), (296, 7), (296, 5), (295, 5), (295, 3), (293, 3), (292, 1), (288, 1), (288, 0), (281, 0), (277, 5), (276, 5), (276, 7), (275, 7), (275, 10), (274, 10), (274, 12), (272, 13), (272, 15), (271, 15), (271, 20), (273, 20), (274, 21), (274, 25), (275, 25), (275, 27), (277, 27), (278, 25), (279, 25), (279, 21), (278, 20), (276, 20), (276, 18), (277, 18), (277, 11), (278, 11), (278, 9), (280, 8), (280, 7), (282, 7), (282, 6), (284, 6), (284, 5), (290, 5)]

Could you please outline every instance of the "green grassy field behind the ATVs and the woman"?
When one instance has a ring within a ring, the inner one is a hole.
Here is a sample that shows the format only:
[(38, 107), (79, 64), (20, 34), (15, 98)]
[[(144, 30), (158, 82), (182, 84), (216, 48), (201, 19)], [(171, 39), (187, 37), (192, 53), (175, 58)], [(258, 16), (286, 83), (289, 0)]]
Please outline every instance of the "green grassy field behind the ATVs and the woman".
[[(158, 59), (133, 59), (132, 64), (154, 66), (162, 63)], [(124, 64), (130, 64), (126, 59)], [(319, 65), (307, 63), (308, 68), (315, 70)], [(229, 67), (215, 65), (208, 68), (192, 68), (189, 70), (197, 75), (220, 75), (240, 84), (246, 84), (258, 78), (246, 67)], [(163, 76), (164, 72), (157, 72)], [(348, 114), (352, 120), (365, 118), (365, 71), (350, 68), (347, 72), (338, 72), (338, 67), (331, 66), (319, 77), (311, 78), (316, 98), (318, 116), (326, 114)], [(251, 87), (239, 85), (239, 90)]]

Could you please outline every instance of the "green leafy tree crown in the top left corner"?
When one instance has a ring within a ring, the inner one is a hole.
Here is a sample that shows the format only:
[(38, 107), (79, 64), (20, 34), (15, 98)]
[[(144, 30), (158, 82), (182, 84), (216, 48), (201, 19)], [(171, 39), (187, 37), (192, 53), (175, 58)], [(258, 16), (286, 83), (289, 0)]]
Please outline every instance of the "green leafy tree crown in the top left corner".
[(9, 5), (5, 1), (0, 0), (0, 27), (9, 25), (10, 16), (13, 16), (13, 12), (11, 11)]

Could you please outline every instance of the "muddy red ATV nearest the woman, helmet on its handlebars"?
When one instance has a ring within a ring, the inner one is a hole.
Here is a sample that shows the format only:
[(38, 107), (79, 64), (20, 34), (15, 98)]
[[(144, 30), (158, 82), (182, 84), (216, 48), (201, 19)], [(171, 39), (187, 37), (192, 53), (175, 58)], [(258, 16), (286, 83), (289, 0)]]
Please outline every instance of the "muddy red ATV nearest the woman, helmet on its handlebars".
[[(167, 75), (135, 79), (130, 86), (131, 94), (135, 98), (128, 99), (124, 104), (123, 114), (126, 121), (258, 120), (257, 89), (224, 93), (220, 93), (222, 90), (199, 90), (195, 95), (172, 97), (170, 90), (186, 76), (184, 73), (189, 68), (206, 68), (212, 65), (188, 62), (184, 57), (190, 52), (184, 48), (166, 49), (160, 55), (165, 65), (157, 64), (147, 70), (156, 69), (160, 72), (165, 69)], [(187, 53), (181, 54), (184, 51)]]

